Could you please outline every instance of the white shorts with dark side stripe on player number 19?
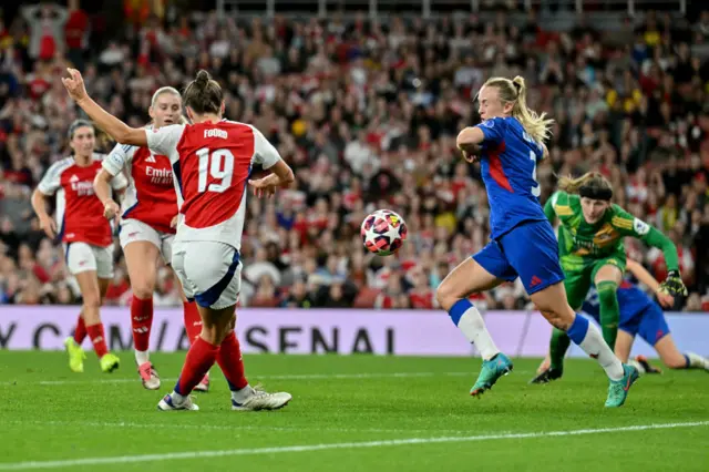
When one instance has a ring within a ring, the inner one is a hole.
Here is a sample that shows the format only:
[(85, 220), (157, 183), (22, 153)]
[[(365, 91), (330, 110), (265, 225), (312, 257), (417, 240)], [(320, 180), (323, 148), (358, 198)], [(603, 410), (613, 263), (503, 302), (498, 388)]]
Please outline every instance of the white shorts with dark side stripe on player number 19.
[(173, 269), (188, 300), (215, 310), (236, 305), (242, 289), (239, 252), (224, 243), (179, 242)]

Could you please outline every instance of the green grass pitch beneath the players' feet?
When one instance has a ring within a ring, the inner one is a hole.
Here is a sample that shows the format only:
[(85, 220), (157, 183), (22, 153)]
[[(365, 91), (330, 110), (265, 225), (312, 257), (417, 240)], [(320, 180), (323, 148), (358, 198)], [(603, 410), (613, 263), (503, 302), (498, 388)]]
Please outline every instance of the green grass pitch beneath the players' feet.
[[(0, 471), (707, 471), (709, 374), (643, 377), (625, 407), (604, 408), (590, 360), (528, 386), (515, 370), (482, 399), (479, 359), (247, 356), (251, 384), (292, 393), (275, 412), (233, 412), (226, 382), (198, 412), (160, 412), (184, 352), (154, 355), (158, 391), (132, 352), (101, 373), (93, 352), (72, 373), (63, 352), (0, 351)], [(600, 430), (600, 431), (599, 431)]]

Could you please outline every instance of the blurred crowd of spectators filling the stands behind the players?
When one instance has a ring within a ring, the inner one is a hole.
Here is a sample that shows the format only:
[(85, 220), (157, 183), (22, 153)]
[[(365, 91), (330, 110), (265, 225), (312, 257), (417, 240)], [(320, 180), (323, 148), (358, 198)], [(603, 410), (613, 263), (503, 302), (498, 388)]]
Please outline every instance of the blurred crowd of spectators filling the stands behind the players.
[[(430, 20), (220, 17), (155, 3), (6, 7), (0, 304), (78, 301), (62, 250), (39, 230), (29, 199), (68, 155), (78, 111), (58, 78), (73, 64), (92, 96), (135, 126), (148, 121), (157, 88), (179, 89), (207, 69), (227, 91), (226, 116), (255, 124), (294, 167), (292, 188), (248, 199), (243, 306), (434, 308), (438, 284), (489, 237), (480, 170), (462, 161), (455, 135), (477, 123), (472, 100), (486, 78), (521, 74), (531, 106), (556, 120), (551, 158), (537, 170), (542, 202), (555, 175), (599, 170), (617, 204), (676, 243), (690, 289), (676, 309), (709, 310), (709, 11), (618, 12), (608, 31), (589, 16), (545, 29), (535, 10), (506, 12), (514, 1)], [(366, 254), (359, 237), (362, 218), (381, 207), (409, 225), (394, 257)], [(106, 302), (125, 305), (130, 280), (115, 246)], [(660, 253), (630, 239), (626, 247), (664, 279)], [(164, 267), (155, 304), (179, 302)], [(520, 284), (479, 304), (528, 306)]]

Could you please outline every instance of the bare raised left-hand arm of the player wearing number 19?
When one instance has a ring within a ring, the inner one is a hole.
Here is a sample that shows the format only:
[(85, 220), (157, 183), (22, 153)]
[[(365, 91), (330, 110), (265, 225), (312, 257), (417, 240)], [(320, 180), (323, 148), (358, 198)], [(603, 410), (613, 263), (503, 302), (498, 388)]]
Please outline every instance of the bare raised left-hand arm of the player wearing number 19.
[(131, 127), (103, 110), (86, 93), (86, 88), (84, 86), (84, 80), (81, 76), (81, 72), (71, 68), (68, 68), (66, 70), (69, 71), (70, 76), (62, 78), (64, 88), (69, 92), (69, 95), (74, 99), (76, 104), (86, 112), (91, 120), (94, 121), (96, 126), (109, 133), (109, 135), (121, 144), (133, 144), (135, 146), (147, 145), (147, 137), (144, 129)]

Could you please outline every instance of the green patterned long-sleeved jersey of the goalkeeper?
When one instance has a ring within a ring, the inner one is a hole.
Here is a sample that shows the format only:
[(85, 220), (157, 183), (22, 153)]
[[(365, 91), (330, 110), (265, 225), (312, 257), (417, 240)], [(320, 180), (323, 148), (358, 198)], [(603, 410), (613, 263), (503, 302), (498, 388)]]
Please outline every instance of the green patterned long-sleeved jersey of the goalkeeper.
[(562, 223), (558, 230), (561, 257), (580, 256), (599, 259), (615, 254), (625, 255), (623, 238), (633, 236), (661, 249), (667, 268), (678, 269), (675, 244), (653, 226), (630, 215), (618, 205), (610, 205), (603, 218), (592, 225), (584, 219), (580, 196), (558, 191), (546, 202), (544, 213), (552, 224), (557, 217)]

